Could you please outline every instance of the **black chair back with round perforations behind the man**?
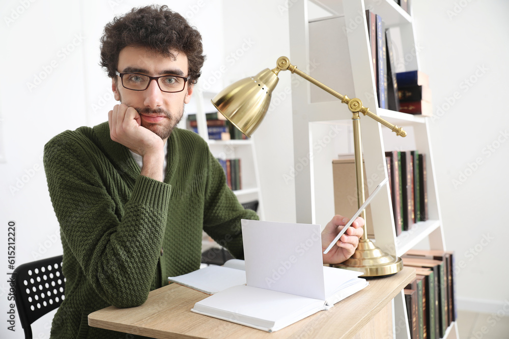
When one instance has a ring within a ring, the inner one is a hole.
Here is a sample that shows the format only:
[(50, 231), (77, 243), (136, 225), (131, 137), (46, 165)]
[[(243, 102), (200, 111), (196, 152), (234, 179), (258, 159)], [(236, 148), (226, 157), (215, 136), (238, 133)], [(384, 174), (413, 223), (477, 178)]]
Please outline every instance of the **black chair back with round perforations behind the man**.
[(19, 265), (14, 270), (14, 297), (25, 338), (32, 338), (32, 323), (56, 309), (64, 297), (62, 256)]

